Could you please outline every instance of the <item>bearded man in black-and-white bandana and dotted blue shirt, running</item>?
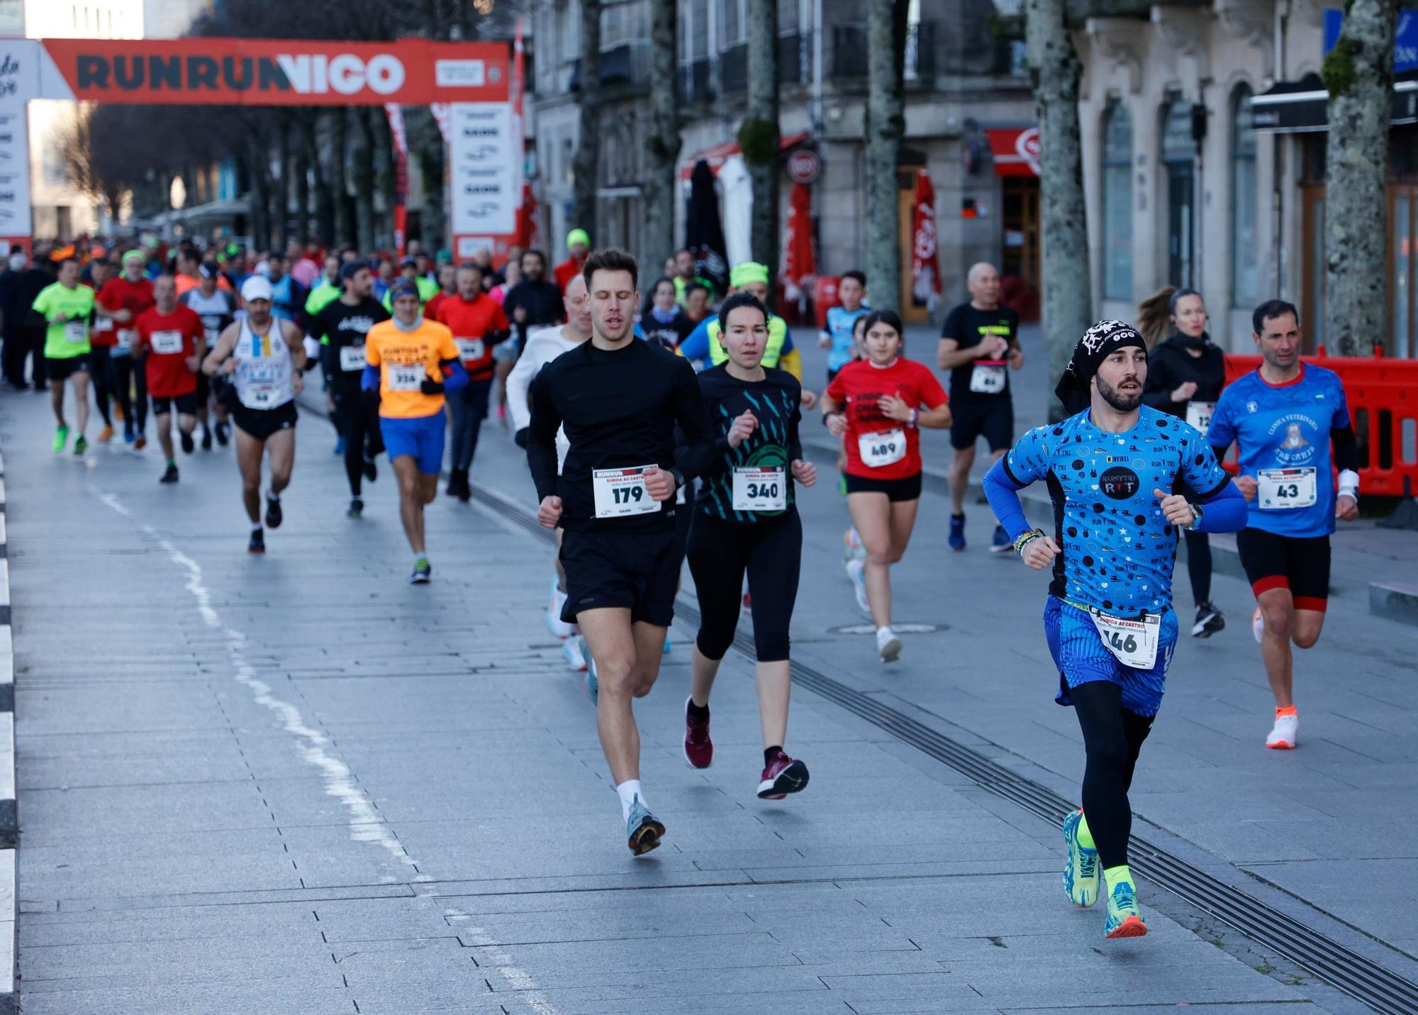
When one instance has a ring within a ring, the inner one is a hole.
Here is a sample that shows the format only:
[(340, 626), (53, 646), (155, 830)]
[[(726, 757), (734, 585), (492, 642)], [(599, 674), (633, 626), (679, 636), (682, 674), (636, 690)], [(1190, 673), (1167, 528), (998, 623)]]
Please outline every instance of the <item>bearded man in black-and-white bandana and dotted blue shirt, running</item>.
[[(1127, 788), (1177, 644), (1176, 529), (1235, 532), (1245, 522), (1245, 502), (1205, 438), (1141, 404), (1146, 380), (1141, 336), (1119, 320), (1098, 322), (1056, 388), (1075, 414), (1031, 430), (984, 478), (1024, 563), (1052, 566), (1044, 631), (1059, 672), (1056, 700), (1073, 706), (1088, 753), (1083, 809), (1064, 819), (1064, 890), (1092, 906), (1102, 865), (1105, 937), (1147, 933), (1127, 869)], [(1020, 505), (1018, 492), (1039, 481), (1054, 499), (1052, 534), (1031, 529)], [(1200, 506), (1168, 493), (1178, 481), (1200, 492)]]

